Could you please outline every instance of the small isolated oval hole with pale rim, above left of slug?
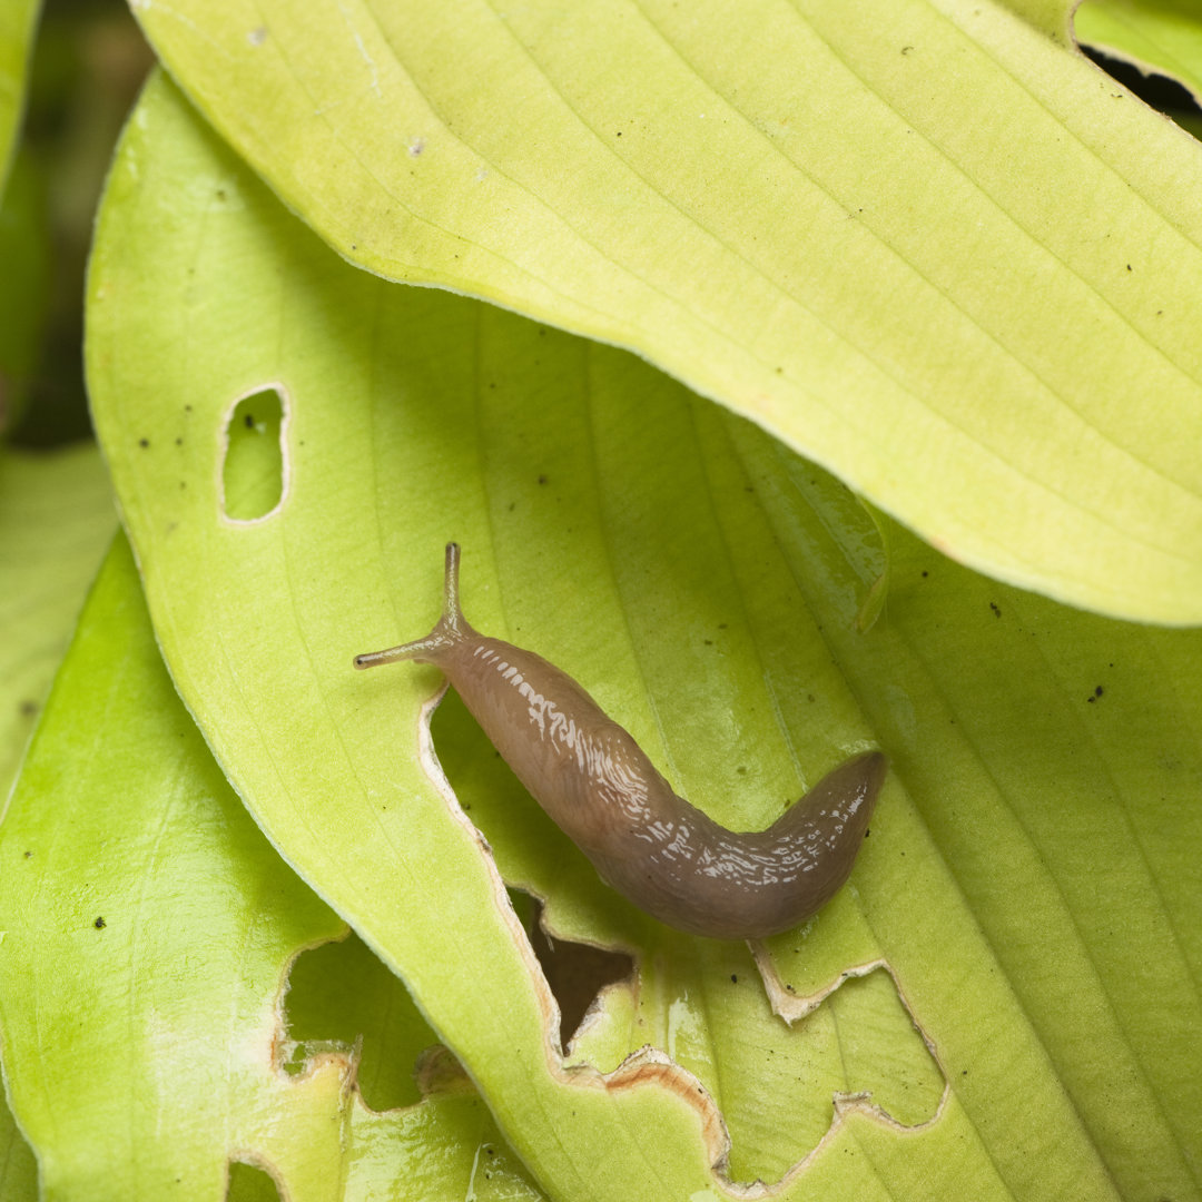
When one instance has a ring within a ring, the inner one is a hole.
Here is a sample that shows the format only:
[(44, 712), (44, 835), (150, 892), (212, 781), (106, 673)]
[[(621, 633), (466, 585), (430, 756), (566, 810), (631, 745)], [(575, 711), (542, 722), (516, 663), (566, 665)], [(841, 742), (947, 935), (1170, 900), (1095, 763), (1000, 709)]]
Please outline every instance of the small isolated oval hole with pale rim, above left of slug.
[(274, 513), (287, 487), (287, 409), (279, 387), (243, 397), (226, 419), (221, 501), (232, 522)]

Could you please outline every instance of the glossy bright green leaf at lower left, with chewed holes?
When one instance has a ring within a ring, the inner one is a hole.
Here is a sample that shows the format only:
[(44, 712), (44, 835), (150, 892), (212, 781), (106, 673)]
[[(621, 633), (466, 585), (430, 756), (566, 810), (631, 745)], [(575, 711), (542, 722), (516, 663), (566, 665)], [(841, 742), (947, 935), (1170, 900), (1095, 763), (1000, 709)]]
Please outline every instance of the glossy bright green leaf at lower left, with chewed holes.
[[(292, 1198), (389, 1196), (398, 1180), (436, 1202), (537, 1198), (470, 1088), (368, 1111), (333, 1030), (282, 1071), (287, 966), (345, 928), (255, 828), (175, 697), (124, 538), (0, 827), (0, 864), (5, 1075), (47, 1198), (224, 1198), (236, 1161)], [(343, 969), (373, 993), (379, 974)], [(311, 1018), (313, 987), (297, 988)], [(392, 1052), (430, 1041), (411, 1004), (392, 1022)]]

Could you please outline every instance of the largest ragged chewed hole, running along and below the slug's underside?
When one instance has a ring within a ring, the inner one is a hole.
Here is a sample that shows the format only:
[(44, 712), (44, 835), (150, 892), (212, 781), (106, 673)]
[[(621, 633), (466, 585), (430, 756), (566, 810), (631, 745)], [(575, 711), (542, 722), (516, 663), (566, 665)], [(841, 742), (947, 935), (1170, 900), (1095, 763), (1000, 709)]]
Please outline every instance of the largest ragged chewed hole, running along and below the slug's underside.
[[(468, 817), (488, 838), (513, 908), (563, 1013), (571, 1065), (618, 1069), (651, 1045), (702, 1083), (731, 1136), (732, 1180), (780, 1180), (850, 1111), (914, 1127), (936, 1118), (945, 1078), (888, 972), (843, 983), (792, 1027), (772, 1011), (745, 944), (649, 932), (633, 962), (579, 942), (541, 939), (541, 904), (570, 922), (623, 930), (613, 894), (496, 756), (448, 692), (432, 721), (439, 760)], [(573, 928), (576, 929), (576, 928)], [(578, 936), (577, 936), (578, 938)], [(594, 1006), (590, 1022), (581, 1025)]]

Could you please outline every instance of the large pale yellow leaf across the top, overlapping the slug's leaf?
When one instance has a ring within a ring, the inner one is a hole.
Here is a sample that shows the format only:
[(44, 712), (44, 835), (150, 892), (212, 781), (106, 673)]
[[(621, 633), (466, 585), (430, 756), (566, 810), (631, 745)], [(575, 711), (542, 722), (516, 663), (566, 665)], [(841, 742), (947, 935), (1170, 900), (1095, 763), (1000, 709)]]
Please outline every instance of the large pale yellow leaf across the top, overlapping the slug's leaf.
[(1197, 623), (1202, 150), (1070, 7), (133, 0), (352, 262), (632, 347), (1002, 579)]

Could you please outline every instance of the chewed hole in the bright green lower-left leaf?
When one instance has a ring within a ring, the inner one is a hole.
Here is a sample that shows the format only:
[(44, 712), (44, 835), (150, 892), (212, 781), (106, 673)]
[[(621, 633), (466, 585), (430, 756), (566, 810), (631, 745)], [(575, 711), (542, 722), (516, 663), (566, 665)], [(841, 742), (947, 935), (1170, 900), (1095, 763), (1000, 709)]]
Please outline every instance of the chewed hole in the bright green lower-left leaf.
[(374, 1111), (419, 1101), (413, 1069), (438, 1036), (403, 982), (355, 934), (302, 952), (284, 999), (292, 1048), (285, 1069), (300, 1072), (328, 1052), (358, 1052), (356, 1079)]

